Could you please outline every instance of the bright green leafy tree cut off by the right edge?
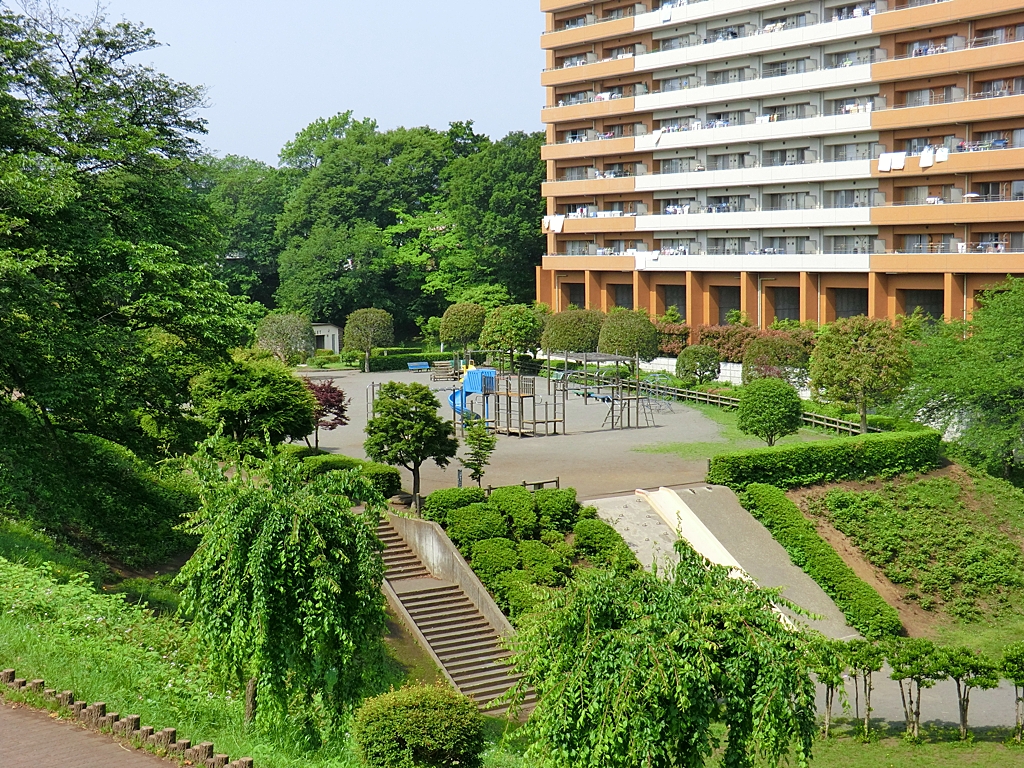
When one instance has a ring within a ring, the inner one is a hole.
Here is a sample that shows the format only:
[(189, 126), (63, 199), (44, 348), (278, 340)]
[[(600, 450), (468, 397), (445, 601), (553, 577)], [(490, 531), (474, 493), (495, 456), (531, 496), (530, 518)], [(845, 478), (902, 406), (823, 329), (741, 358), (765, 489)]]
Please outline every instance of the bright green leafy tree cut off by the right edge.
[(914, 376), (904, 415), (957, 433), (961, 453), (1009, 477), (1024, 451), (1024, 280), (978, 297), (967, 324), (926, 327), (913, 346)]

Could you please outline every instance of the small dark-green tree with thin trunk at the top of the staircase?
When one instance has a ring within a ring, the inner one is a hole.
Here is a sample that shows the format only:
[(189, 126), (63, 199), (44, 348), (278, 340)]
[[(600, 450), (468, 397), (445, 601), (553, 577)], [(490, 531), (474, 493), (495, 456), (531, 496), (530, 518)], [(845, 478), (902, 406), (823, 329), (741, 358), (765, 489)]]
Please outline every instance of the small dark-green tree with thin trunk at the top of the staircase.
[(413, 474), (413, 502), (420, 509), (420, 467), (428, 460), (446, 467), (459, 451), (455, 425), (437, 415), (440, 403), (423, 384), (389, 381), (374, 400), (364, 447), (375, 462)]

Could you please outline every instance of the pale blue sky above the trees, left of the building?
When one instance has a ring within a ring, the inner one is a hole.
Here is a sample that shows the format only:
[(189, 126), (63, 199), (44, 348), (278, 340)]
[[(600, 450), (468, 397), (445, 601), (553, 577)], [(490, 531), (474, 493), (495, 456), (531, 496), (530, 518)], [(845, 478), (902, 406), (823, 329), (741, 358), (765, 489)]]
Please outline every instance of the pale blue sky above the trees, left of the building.
[[(57, 0), (88, 13), (94, 0)], [(544, 19), (537, 0), (106, 0), (152, 27), (147, 55), (209, 89), (207, 145), (276, 163), (318, 117), (352, 110), (384, 128), (473, 120), (494, 138), (539, 130)]]

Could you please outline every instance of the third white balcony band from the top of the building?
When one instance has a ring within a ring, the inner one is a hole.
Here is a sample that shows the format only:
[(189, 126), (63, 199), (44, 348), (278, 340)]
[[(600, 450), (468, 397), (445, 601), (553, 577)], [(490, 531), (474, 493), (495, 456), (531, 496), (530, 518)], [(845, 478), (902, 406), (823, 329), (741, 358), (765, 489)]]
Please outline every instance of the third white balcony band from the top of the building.
[(634, 99), (634, 112), (654, 112), (655, 110), (675, 110), (680, 106), (699, 106), (718, 101), (768, 98), (783, 93), (823, 91), (829, 88), (866, 85), (870, 82), (870, 65), (842, 67), (837, 70), (815, 70), (797, 75), (758, 78), (757, 80), (723, 83), (722, 85), (702, 85), (697, 88), (684, 88), (666, 93), (648, 93)]

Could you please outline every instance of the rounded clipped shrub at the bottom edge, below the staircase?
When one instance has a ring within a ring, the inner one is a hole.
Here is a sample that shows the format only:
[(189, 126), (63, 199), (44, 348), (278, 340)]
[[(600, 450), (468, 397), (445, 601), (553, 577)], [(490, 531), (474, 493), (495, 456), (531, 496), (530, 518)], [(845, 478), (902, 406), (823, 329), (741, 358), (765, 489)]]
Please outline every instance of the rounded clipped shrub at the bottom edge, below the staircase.
[(368, 698), (352, 728), (369, 768), (479, 768), (483, 716), (461, 693), (416, 685)]

